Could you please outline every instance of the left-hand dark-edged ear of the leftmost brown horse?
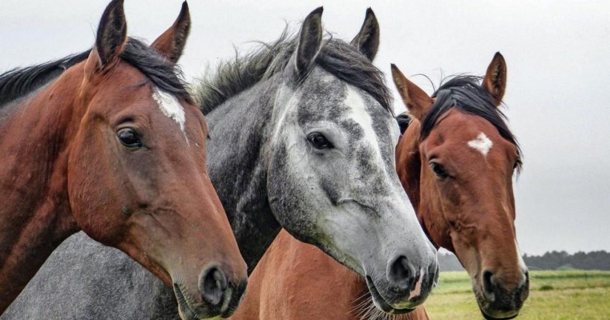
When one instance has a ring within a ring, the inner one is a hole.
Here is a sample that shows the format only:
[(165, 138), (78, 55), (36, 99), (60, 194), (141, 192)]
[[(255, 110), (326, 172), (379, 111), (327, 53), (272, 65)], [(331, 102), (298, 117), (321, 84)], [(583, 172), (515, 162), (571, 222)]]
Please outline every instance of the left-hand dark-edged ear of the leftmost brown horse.
[(99, 57), (98, 69), (115, 63), (126, 42), (127, 21), (123, 0), (112, 0), (102, 13), (95, 38), (95, 49)]

